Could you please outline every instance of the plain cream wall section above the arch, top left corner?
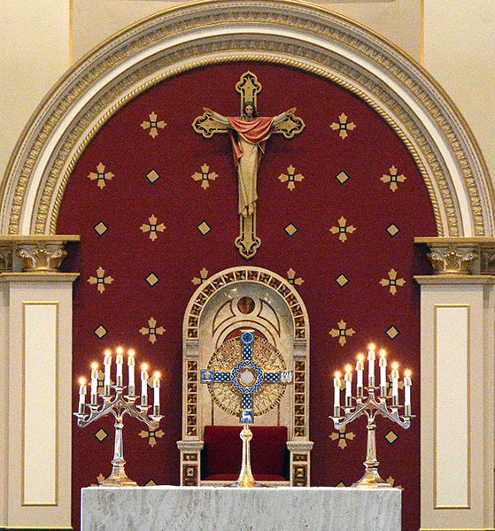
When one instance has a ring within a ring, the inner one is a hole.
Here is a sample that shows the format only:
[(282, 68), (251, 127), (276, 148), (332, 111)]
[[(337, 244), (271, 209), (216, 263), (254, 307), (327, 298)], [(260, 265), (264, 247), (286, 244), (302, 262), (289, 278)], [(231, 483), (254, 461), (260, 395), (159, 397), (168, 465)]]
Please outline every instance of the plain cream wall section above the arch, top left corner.
[(0, 2), (0, 176), (27, 120), (70, 65), (69, 0)]

